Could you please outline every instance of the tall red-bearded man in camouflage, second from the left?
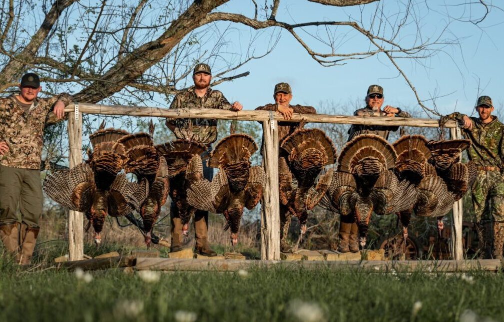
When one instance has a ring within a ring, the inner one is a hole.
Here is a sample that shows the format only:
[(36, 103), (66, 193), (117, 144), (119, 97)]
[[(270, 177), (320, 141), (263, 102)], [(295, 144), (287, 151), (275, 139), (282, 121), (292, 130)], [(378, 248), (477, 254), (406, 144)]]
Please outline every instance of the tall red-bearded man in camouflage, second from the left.
[[(170, 108), (216, 108), (239, 111), (243, 107), (239, 102), (230, 104), (222, 92), (210, 88), (212, 71), (205, 63), (196, 65), (193, 72), (194, 87), (178, 93)], [(206, 155), (212, 150), (211, 144), (217, 140), (217, 119), (192, 118), (192, 119), (166, 119), (166, 126), (173, 132), (177, 139), (191, 140), (207, 146)], [(206, 156), (202, 155), (202, 157)], [(203, 162), (203, 175), (211, 181), (213, 169)], [(175, 203), (170, 206), (171, 218), (171, 247), (170, 251), (182, 250), (182, 225), (178, 216)], [(208, 212), (198, 210), (193, 219), (196, 231), (196, 252), (206, 256), (216, 256), (217, 253), (210, 248), (208, 242)]]

